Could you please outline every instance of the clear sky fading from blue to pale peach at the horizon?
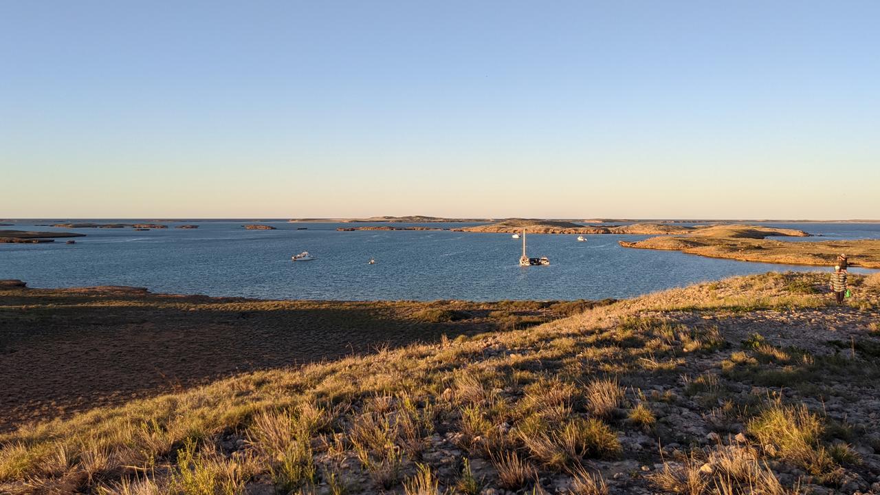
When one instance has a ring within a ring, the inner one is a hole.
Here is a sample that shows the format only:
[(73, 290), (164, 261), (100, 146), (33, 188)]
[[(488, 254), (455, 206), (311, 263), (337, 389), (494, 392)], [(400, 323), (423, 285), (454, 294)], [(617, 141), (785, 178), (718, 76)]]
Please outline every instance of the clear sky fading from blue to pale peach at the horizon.
[(0, 2), (0, 218), (880, 218), (880, 2)]

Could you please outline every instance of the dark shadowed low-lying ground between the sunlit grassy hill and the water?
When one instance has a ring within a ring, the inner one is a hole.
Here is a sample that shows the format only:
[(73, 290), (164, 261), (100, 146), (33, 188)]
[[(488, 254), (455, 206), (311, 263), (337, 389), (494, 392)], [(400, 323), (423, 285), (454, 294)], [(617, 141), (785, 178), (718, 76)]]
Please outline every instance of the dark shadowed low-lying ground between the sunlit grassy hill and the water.
[(0, 281), (0, 432), (231, 373), (525, 328), (591, 304), (260, 300)]

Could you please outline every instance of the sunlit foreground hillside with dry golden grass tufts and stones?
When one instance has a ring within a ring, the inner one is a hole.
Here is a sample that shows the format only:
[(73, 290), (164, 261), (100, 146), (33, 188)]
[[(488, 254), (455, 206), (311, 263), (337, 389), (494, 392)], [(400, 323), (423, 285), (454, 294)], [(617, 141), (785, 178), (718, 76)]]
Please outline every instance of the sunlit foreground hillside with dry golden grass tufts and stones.
[[(825, 293), (825, 274), (733, 277), (528, 329), (434, 334), (21, 425), (0, 434), (0, 491), (878, 491), (880, 275), (851, 279), (854, 297), (840, 307)], [(4, 289), (0, 317), (4, 328), (86, 325), (160, 304), (164, 317), (123, 321), (191, 335), (169, 320), (191, 313), (188, 299), (126, 290), (102, 299), (19, 285)], [(29, 293), (45, 299), (28, 301)], [(197, 304), (249, 342), (267, 337), (262, 319), (284, 321), (275, 305), (297, 304), (252, 301), (266, 306), (240, 311), (240, 300)], [(81, 313), (70, 320), (57, 311)], [(363, 321), (329, 325), (335, 330), (313, 329), (312, 338)], [(33, 342), (57, 338), (52, 329), (26, 333)], [(227, 357), (238, 351), (221, 346)], [(193, 358), (174, 349), (172, 358)]]

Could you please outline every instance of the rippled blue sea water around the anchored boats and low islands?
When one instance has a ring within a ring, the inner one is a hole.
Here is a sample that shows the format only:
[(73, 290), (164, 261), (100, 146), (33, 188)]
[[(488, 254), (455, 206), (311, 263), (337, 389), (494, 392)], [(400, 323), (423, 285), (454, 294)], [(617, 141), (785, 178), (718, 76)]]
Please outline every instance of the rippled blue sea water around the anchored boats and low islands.
[[(40, 223), (47, 222), (21, 220), (0, 228), (87, 237), (73, 245), (63, 240), (0, 244), (0, 278), (19, 278), (32, 287), (136, 285), (152, 292), (264, 299), (603, 299), (768, 270), (821, 270), (627, 249), (617, 243), (648, 237), (638, 235), (589, 235), (586, 242), (577, 242), (575, 235), (530, 235), (529, 255), (546, 255), (552, 264), (520, 268), (521, 242), (507, 233), (336, 232), (338, 226), (370, 224), (286, 221), (266, 222), (277, 227), (274, 231), (245, 230), (241, 225), (251, 223), (246, 221), (194, 221), (187, 223), (198, 229), (148, 232), (35, 226)], [(825, 236), (815, 240), (880, 239), (880, 224), (766, 225)], [(301, 251), (317, 259), (291, 262), (290, 255)], [(370, 257), (377, 263), (367, 264)]]

